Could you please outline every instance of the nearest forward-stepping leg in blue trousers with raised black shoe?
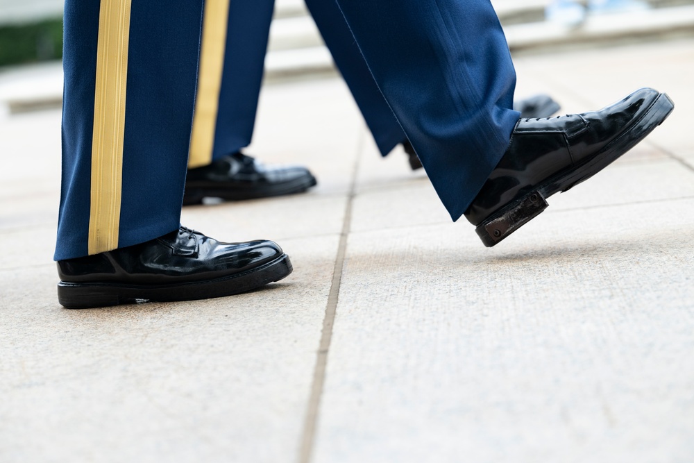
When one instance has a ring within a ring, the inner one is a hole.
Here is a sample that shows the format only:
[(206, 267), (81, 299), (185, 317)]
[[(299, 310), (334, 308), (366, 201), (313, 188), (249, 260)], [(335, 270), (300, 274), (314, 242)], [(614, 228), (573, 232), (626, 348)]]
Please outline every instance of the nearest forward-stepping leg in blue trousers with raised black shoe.
[(493, 246), (668, 117), (642, 89), (600, 111), (518, 120), (515, 75), (488, 0), (337, 0), (376, 83), (452, 219)]

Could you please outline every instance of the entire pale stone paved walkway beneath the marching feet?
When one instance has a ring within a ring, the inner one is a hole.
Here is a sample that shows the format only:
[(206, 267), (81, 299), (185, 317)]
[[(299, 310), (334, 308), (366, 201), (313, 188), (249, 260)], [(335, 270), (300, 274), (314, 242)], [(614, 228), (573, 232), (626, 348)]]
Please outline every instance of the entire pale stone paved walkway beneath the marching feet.
[(341, 81), (267, 87), (248, 153), (319, 187), (182, 220), (295, 271), (192, 303), (60, 308), (60, 112), (0, 115), (0, 461), (694, 461), (694, 40), (516, 64), (566, 112), (677, 108), (486, 249)]

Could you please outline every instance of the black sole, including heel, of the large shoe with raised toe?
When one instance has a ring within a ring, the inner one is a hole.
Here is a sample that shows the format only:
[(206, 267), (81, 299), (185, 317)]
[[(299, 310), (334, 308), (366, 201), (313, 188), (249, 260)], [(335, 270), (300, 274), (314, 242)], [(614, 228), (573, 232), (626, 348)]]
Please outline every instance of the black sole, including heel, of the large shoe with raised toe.
[(632, 127), (607, 146), (604, 146), (598, 155), (584, 165), (571, 169), (568, 173), (560, 173), (546, 180), (535, 191), (491, 214), (475, 229), (484, 246), (495, 246), (518, 228), (537, 217), (548, 207), (545, 199), (552, 194), (570, 190), (617, 160), (638, 142), (641, 142), (654, 128), (662, 124), (674, 108), (675, 104), (672, 103), (667, 94), (659, 94), (641, 119), (634, 122)]

